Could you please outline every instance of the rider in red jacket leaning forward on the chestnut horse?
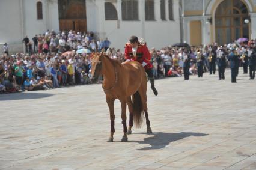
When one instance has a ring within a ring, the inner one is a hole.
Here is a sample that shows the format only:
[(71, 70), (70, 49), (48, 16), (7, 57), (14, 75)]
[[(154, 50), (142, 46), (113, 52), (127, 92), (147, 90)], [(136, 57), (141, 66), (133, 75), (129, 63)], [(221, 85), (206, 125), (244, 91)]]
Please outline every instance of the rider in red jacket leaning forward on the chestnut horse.
[(151, 64), (151, 55), (145, 44), (139, 43), (138, 37), (130, 37), (129, 43), (125, 47), (126, 61), (138, 61), (145, 68), (146, 73), (150, 79), (151, 89), (154, 95), (157, 96), (158, 92), (154, 87), (153, 65)]

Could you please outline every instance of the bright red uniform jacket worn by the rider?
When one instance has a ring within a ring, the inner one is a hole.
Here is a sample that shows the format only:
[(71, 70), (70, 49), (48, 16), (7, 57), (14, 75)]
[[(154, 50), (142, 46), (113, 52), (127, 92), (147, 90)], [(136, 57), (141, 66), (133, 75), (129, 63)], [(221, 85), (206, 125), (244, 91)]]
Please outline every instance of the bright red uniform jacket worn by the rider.
[(138, 44), (136, 56), (133, 56), (132, 45), (130, 43), (127, 43), (124, 52), (125, 59), (130, 59), (131, 61), (138, 61), (141, 64), (142, 62), (147, 63), (147, 65), (145, 65), (144, 67), (145, 70), (153, 68), (153, 65), (151, 64), (151, 55), (146, 45)]

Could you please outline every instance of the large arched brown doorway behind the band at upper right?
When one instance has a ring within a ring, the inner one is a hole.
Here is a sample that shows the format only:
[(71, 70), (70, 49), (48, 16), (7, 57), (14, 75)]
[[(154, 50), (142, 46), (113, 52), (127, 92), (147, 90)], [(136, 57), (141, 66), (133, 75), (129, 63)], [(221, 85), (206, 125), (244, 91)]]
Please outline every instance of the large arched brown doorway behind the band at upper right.
[(238, 38), (249, 38), (248, 9), (240, 0), (224, 0), (215, 13), (215, 38), (218, 44), (231, 43)]

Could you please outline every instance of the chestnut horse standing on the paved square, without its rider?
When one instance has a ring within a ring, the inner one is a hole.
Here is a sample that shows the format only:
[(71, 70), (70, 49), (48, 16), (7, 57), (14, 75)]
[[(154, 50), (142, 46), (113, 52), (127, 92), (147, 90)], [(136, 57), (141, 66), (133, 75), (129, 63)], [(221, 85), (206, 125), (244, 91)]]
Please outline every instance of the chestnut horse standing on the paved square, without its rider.
[[(136, 61), (123, 62), (121, 64), (119, 61), (109, 58), (103, 52), (94, 53), (91, 61), (91, 80), (96, 82), (98, 77), (103, 75), (102, 88), (106, 94), (111, 120), (111, 132), (108, 142), (113, 142), (114, 139), (115, 99), (121, 102), (121, 118), (124, 132), (122, 142), (128, 141), (127, 134), (132, 133), (133, 121), (137, 127), (141, 127), (144, 112), (147, 133), (152, 133), (147, 112), (147, 78), (144, 67)], [(130, 112), (128, 130), (126, 127), (126, 103)]]

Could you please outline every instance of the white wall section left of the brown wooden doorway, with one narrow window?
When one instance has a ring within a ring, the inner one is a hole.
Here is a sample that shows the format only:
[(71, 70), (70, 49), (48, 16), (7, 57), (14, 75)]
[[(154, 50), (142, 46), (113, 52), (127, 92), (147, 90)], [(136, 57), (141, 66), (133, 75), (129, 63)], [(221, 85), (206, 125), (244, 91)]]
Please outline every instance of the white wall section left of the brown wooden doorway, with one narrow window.
[[(41, 18), (38, 18), (37, 7), (41, 10)], [(1, 52), (4, 43), (8, 43), (10, 52), (23, 51), (22, 40), (26, 35), (31, 40), (47, 29), (59, 29), (58, 1), (1, 0), (0, 22)]]

